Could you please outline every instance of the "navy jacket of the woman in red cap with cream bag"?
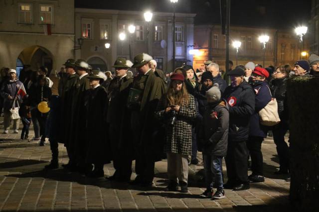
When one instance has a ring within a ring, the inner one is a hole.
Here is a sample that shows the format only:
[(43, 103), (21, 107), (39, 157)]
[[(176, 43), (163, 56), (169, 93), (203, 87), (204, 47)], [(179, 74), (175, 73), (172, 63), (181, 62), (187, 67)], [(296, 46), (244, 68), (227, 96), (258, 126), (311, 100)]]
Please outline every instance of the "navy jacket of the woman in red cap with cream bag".
[(256, 94), (255, 111), (250, 117), (250, 136), (267, 137), (269, 127), (260, 124), (259, 111), (267, 106), (271, 101), (271, 93), (267, 81), (262, 81), (253, 85)]

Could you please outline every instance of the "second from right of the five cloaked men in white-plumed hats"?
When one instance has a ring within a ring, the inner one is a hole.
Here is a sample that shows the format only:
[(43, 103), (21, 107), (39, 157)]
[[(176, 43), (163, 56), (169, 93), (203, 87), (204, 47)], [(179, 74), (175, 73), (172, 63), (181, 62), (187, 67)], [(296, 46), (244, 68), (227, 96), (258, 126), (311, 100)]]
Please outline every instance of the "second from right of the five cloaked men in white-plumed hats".
[(133, 141), (131, 132), (131, 111), (127, 108), (127, 101), (133, 78), (127, 71), (133, 63), (119, 57), (113, 68), (116, 77), (108, 88), (109, 108), (107, 121), (109, 123), (109, 138), (113, 153), (115, 173), (108, 180), (129, 182), (132, 175)]

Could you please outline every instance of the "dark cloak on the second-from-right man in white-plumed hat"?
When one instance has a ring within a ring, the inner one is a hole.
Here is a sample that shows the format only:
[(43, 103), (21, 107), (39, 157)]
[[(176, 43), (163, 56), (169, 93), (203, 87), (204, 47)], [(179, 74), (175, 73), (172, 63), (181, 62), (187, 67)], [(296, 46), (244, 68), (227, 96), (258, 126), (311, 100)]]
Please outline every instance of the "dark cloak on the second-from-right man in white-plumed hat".
[(109, 133), (113, 156), (125, 154), (125, 157), (133, 159), (133, 139), (131, 131), (131, 111), (127, 107), (130, 88), (133, 78), (124, 77), (122, 80), (114, 78), (108, 89), (109, 106), (107, 122), (112, 129)]

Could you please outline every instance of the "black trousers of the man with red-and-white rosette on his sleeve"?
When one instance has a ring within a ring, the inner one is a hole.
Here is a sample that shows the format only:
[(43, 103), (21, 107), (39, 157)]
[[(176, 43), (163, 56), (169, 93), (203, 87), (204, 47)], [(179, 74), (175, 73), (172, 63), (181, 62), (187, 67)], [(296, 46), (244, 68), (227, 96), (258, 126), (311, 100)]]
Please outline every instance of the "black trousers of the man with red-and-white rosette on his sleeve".
[[(228, 141), (225, 158), (228, 182), (230, 184), (248, 183), (248, 148), (246, 141)], [(227, 183), (228, 183), (227, 182)]]

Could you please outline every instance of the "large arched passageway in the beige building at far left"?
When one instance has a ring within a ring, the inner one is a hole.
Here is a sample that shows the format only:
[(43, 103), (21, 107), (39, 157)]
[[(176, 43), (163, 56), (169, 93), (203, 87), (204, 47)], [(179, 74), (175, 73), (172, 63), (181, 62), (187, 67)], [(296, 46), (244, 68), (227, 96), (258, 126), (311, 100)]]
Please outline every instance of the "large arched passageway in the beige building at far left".
[(39, 67), (45, 66), (49, 73), (53, 67), (52, 53), (42, 46), (30, 46), (22, 50), (17, 60), (23, 67), (30, 67), (32, 70), (38, 70)]

